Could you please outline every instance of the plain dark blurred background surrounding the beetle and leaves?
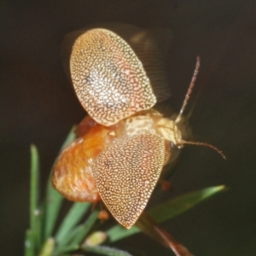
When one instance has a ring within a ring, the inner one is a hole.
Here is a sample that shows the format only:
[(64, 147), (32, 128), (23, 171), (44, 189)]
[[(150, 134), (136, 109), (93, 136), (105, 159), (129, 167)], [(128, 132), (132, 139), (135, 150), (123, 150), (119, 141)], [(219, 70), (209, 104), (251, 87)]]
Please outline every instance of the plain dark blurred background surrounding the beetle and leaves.
[[(67, 132), (84, 117), (61, 66), (67, 32), (96, 22), (168, 27), (172, 106), (180, 108), (201, 55), (191, 118), (196, 140), (224, 150), (188, 146), (172, 178), (181, 195), (226, 184), (230, 190), (164, 224), (197, 256), (255, 255), (255, 1), (1, 1), (0, 2), (0, 254), (22, 255), (28, 227), (29, 147), (38, 146), (45, 183)], [(44, 184), (43, 183), (43, 184)], [(170, 255), (143, 235), (115, 247)]]

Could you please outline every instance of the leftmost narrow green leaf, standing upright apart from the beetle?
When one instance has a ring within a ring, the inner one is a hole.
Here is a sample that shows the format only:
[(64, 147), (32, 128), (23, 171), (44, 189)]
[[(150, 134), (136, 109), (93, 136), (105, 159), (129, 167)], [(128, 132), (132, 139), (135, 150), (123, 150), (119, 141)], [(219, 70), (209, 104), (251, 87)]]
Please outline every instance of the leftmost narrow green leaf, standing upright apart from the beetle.
[(41, 214), (38, 208), (38, 177), (39, 177), (39, 156), (36, 146), (31, 146), (31, 182), (30, 182), (30, 230), (32, 233), (33, 247), (36, 251), (41, 240)]

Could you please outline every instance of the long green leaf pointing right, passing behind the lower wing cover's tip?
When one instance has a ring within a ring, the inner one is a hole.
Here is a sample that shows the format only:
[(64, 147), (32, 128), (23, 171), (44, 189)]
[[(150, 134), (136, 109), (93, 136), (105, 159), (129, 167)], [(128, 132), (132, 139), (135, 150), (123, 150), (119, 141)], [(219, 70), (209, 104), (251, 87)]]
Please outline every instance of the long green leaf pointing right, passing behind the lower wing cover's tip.
[[(212, 195), (216, 195), (219, 192), (224, 191), (224, 185), (210, 187), (207, 189), (201, 189), (195, 192), (191, 192), (186, 195), (181, 195), (170, 201), (166, 201), (148, 211), (150, 216), (154, 218), (157, 223), (162, 223), (168, 219), (172, 219), (187, 212), (192, 207), (210, 198)], [(137, 234), (140, 230), (137, 227), (132, 227), (130, 230), (125, 230), (122, 226), (115, 225), (113, 228), (107, 231), (109, 241), (118, 241), (127, 236)]]

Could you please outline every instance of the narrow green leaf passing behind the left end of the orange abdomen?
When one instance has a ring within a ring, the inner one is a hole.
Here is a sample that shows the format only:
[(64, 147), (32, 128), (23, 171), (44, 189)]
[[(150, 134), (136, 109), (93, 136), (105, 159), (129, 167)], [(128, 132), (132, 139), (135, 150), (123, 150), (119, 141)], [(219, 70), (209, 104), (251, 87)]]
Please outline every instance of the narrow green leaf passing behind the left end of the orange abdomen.
[[(74, 133), (74, 130), (75, 127), (73, 127), (72, 130), (69, 132), (65, 142), (61, 147), (61, 151), (75, 139), (76, 135)], [(63, 199), (63, 196), (59, 192), (57, 192), (52, 186), (50, 173), (49, 182), (46, 190), (46, 198), (44, 202), (44, 240), (47, 239), (49, 236), (52, 236), (53, 230), (55, 229), (55, 222), (60, 212)]]

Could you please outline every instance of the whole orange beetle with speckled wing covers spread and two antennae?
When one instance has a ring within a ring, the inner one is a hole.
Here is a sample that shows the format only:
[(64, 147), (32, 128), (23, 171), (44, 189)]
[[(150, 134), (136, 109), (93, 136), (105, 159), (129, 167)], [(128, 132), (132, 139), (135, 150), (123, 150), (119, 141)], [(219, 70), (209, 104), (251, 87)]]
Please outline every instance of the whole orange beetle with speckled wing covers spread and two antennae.
[[(177, 118), (166, 119), (152, 109), (157, 96), (130, 45), (105, 28), (81, 33), (73, 44), (70, 74), (89, 116), (79, 125), (80, 137), (55, 164), (55, 189), (72, 201), (102, 200), (119, 224), (131, 228), (172, 156), (172, 145), (190, 143), (183, 141), (177, 123), (199, 66), (198, 58)], [(222, 154), (207, 143), (191, 144)]]

